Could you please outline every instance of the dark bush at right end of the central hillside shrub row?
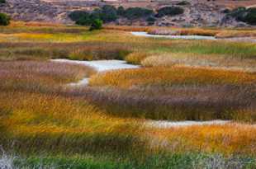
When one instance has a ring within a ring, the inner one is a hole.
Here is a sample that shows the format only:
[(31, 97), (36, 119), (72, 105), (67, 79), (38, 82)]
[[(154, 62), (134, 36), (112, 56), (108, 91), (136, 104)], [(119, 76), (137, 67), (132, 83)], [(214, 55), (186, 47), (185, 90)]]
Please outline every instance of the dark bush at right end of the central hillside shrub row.
[(158, 10), (157, 17), (163, 16), (175, 16), (183, 14), (184, 10), (182, 7), (162, 7)]

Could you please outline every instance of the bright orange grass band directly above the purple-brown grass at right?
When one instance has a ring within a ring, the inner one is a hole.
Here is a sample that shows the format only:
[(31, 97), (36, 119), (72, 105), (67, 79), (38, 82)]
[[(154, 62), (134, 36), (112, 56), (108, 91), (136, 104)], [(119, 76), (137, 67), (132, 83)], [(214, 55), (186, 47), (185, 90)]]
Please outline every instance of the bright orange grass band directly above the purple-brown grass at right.
[(256, 82), (255, 73), (213, 70), (207, 68), (140, 68), (98, 74), (90, 80), (91, 86), (129, 88), (147, 85), (246, 85)]

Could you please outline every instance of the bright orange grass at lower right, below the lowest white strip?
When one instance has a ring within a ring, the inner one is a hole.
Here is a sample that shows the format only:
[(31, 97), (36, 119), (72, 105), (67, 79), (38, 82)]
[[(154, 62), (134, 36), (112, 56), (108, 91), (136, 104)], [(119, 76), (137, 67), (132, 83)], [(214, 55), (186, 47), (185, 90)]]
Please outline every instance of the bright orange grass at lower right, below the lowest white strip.
[(153, 137), (162, 140), (160, 147), (171, 152), (206, 152), (251, 154), (256, 151), (256, 127), (249, 124), (188, 126), (152, 129)]

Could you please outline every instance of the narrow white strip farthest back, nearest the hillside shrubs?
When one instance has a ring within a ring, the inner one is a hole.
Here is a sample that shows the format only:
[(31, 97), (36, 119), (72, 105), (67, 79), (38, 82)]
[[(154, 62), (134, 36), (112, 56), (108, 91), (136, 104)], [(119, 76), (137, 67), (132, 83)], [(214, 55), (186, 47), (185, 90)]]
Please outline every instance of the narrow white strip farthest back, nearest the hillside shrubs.
[(206, 35), (150, 35), (145, 31), (133, 31), (132, 35), (136, 36), (144, 36), (151, 38), (167, 38), (167, 39), (183, 39), (183, 40), (216, 40), (214, 36), (206, 36)]

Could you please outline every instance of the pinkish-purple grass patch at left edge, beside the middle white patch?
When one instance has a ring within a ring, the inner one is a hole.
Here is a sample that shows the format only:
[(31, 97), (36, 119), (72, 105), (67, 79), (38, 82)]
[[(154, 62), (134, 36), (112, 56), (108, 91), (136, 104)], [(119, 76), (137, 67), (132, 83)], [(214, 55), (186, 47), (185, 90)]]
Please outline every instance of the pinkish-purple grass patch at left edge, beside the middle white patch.
[(9, 61), (0, 63), (2, 90), (54, 91), (69, 82), (92, 75), (92, 68), (39, 61)]

